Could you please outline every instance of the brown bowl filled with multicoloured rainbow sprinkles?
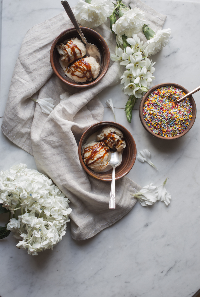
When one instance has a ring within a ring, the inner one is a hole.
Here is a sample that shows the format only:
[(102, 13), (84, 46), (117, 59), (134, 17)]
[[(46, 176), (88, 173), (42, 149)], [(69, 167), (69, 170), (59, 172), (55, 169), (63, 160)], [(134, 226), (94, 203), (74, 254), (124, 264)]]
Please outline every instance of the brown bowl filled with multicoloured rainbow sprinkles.
[(173, 104), (188, 91), (175, 83), (161, 83), (142, 98), (139, 117), (143, 127), (153, 136), (172, 140), (185, 135), (196, 118), (196, 104), (190, 95)]

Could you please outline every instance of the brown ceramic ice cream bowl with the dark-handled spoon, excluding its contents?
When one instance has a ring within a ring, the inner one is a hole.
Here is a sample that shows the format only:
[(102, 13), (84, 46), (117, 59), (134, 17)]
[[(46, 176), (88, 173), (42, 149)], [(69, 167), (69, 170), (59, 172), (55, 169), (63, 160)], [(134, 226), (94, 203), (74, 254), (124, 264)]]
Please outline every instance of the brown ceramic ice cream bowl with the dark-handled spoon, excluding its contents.
[(63, 69), (61, 68), (61, 65), (59, 63), (59, 53), (56, 48), (56, 45), (58, 45), (61, 42), (64, 42), (66, 40), (70, 40), (73, 37), (77, 37), (81, 40), (77, 30), (75, 28), (67, 29), (61, 34), (56, 37), (54, 40), (51, 50), (50, 50), (50, 62), (51, 62), (51, 67), (53, 68), (53, 71), (55, 72), (55, 75), (57, 75), (60, 80), (62, 80), (64, 83), (67, 85), (70, 85), (72, 87), (76, 88), (86, 88), (95, 85), (98, 83), (106, 74), (109, 64), (110, 64), (110, 52), (109, 48), (107, 46), (107, 43), (103, 39), (103, 37), (97, 33), (96, 31), (81, 27), (81, 30), (83, 34), (85, 35), (86, 40), (88, 43), (93, 43), (97, 46), (99, 49), (99, 52), (101, 54), (101, 65), (100, 65), (100, 72), (99, 75), (97, 76), (96, 79), (93, 79), (92, 81), (85, 82), (85, 83), (76, 83), (72, 79), (68, 78)]

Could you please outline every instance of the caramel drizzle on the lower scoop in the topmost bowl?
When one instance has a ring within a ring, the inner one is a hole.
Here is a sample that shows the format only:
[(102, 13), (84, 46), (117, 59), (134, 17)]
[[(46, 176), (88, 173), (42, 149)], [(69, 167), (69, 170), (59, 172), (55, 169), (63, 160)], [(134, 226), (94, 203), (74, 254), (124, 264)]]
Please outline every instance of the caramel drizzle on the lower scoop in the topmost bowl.
[[(78, 78), (86, 78), (89, 80), (93, 77), (92, 70), (90, 64), (88, 64), (85, 59), (81, 59), (77, 62), (75, 62), (69, 69), (68, 72), (72, 76), (77, 76)], [(75, 73), (78, 72), (79, 75), (76, 75)], [(81, 74), (81, 75), (80, 75)]]

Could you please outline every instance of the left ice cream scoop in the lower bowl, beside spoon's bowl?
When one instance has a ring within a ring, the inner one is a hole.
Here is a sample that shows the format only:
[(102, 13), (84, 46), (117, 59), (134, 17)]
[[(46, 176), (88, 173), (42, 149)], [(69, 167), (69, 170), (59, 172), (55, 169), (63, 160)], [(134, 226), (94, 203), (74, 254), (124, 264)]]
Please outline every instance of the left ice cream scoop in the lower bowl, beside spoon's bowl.
[(103, 171), (108, 165), (109, 147), (104, 142), (91, 141), (82, 147), (84, 163), (94, 171)]

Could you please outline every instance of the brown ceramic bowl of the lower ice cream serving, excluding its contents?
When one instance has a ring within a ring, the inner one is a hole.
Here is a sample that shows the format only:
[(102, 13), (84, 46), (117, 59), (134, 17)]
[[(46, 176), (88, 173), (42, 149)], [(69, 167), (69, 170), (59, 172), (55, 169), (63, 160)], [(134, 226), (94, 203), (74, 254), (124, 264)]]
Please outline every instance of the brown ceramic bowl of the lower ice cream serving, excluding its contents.
[(95, 172), (91, 170), (82, 159), (82, 146), (85, 144), (86, 140), (90, 135), (93, 133), (98, 132), (102, 127), (109, 125), (114, 126), (120, 129), (120, 131), (123, 133), (124, 140), (126, 141), (126, 147), (122, 154), (122, 162), (121, 164), (116, 168), (115, 170), (115, 180), (122, 178), (125, 176), (133, 167), (136, 159), (136, 145), (135, 141), (133, 139), (133, 136), (131, 133), (122, 125), (115, 123), (115, 122), (109, 122), (109, 121), (103, 121), (96, 124), (93, 124), (91, 127), (89, 127), (82, 135), (79, 146), (78, 146), (78, 154), (79, 159), (81, 162), (82, 167), (85, 169), (85, 171), (92, 176), (93, 178), (99, 179), (101, 181), (111, 181), (112, 180), (112, 169), (106, 172)]

